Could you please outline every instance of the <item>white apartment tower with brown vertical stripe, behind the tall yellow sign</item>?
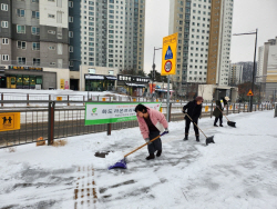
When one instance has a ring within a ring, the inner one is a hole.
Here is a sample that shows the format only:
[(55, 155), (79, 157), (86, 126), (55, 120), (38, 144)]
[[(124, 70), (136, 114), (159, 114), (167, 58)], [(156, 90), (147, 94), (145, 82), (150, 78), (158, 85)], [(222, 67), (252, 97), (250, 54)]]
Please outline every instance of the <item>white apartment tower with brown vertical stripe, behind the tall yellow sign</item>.
[(233, 0), (171, 0), (170, 33), (178, 32), (176, 76), (187, 83), (228, 84)]

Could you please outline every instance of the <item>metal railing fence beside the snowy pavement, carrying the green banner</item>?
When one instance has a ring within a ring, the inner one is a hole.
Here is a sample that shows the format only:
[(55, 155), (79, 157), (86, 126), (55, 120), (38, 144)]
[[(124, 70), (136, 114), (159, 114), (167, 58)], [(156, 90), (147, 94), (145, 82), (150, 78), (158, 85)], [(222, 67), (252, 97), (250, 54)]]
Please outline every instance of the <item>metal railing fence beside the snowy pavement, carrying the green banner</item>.
[[(0, 131), (0, 149), (27, 143), (33, 143), (38, 140), (48, 141), (52, 145), (54, 139), (68, 138), (73, 136), (104, 132), (137, 127), (137, 121), (119, 122), (112, 125), (92, 125), (84, 126), (85, 106), (82, 101), (29, 101), (39, 103), (38, 106), (20, 107), (18, 104), (25, 101), (3, 101), (4, 104), (14, 107), (2, 107), (0, 113), (20, 112), (19, 130)], [(64, 106), (65, 103), (65, 106)], [(73, 106), (76, 104), (76, 106)], [(183, 103), (184, 104), (184, 103)], [(184, 119), (182, 113), (183, 104), (172, 102), (170, 106), (170, 121), (179, 121)], [(212, 117), (215, 104), (204, 103), (202, 117)], [(162, 111), (166, 115), (166, 104), (162, 103)], [(254, 104), (254, 111), (273, 109), (273, 104)], [(248, 112), (248, 103), (229, 103), (226, 115)]]

